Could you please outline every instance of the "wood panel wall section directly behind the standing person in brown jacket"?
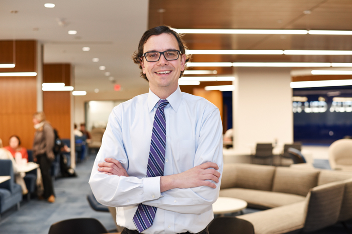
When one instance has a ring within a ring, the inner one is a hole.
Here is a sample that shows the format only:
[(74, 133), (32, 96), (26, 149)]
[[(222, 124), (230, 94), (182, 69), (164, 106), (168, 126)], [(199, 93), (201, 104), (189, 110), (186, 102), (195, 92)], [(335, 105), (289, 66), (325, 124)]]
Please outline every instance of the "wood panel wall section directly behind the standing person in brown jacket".
[[(70, 64), (44, 64), (43, 83), (71, 85)], [(58, 131), (61, 138), (70, 139), (71, 101), (70, 91), (44, 91), (43, 110), (46, 119)]]

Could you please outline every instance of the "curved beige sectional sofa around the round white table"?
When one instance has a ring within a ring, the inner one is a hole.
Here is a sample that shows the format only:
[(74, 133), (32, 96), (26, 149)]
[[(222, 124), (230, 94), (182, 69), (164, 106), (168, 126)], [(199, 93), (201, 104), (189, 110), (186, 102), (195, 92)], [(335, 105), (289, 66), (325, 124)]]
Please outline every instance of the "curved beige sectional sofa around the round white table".
[(318, 169), (225, 164), (220, 196), (266, 209), (237, 216), (256, 234), (314, 231), (352, 219), (352, 173)]

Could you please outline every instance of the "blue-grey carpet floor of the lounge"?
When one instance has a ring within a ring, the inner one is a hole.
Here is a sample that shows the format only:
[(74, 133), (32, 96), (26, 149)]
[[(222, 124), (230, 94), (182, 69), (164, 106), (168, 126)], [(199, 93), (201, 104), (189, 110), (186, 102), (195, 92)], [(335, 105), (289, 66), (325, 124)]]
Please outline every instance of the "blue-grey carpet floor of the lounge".
[[(55, 180), (56, 202), (48, 203), (38, 199), (22, 201), (21, 209), (12, 208), (1, 216), (0, 234), (47, 234), (52, 223), (77, 217), (97, 218), (108, 230), (115, 230), (114, 220), (109, 212), (98, 212), (91, 208), (86, 195), (91, 192), (88, 184), (95, 156), (90, 156), (76, 167), (77, 177)], [(314, 166), (329, 169), (328, 160), (315, 160)], [(259, 210), (246, 208), (243, 213)], [(238, 215), (229, 214), (229, 215)], [(352, 230), (352, 222), (347, 223)], [(116, 230), (115, 230), (116, 231)], [(311, 234), (344, 234), (348, 233), (338, 223)], [(349, 232), (350, 233), (350, 232)]]

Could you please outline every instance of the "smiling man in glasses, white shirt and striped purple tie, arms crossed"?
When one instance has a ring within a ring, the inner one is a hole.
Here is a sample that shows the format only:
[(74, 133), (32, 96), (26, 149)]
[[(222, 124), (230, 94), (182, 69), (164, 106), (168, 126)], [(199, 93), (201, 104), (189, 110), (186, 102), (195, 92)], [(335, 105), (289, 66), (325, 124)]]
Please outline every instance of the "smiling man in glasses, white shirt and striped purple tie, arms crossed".
[(93, 166), (97, 200), (122, 233), (208, 233), (222, 172), (219, 109), (182, 93), (186, 46), (169, 27), (144, 33), (134, 61), (149, 93), (115, 107)]

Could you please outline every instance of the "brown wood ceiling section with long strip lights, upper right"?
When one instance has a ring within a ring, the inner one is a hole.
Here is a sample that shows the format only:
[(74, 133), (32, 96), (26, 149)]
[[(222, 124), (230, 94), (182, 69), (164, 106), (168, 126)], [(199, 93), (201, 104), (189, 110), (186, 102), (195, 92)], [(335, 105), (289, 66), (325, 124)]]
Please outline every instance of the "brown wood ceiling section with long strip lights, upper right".
[[(304, 14), (308, 10), (311, 14)], [(148, 26), (159, 25), (178, 29), (352, 30), (352, 1), (150, 0)], [(184, 39), (194, 50), (352, 50), (352, 36), (189, 34)], [(192, 61), (352, 62), (352, 56), (194, 55)], [(216, 69), (218, 74), (232, 73), (231, 68)]]

